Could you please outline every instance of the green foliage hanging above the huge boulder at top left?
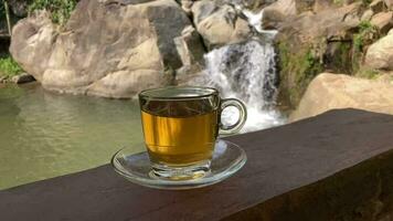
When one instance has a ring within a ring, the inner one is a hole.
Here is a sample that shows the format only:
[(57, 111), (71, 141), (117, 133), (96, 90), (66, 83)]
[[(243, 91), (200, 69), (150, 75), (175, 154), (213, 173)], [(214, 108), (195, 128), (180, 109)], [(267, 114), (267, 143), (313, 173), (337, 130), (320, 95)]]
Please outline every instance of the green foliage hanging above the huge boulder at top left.
[(52, 21), (57, 24), (65, 24), (71, 12), (75, 9), (77, 0), (33, 0), (29, 11), (46, 10), (52, 14)]

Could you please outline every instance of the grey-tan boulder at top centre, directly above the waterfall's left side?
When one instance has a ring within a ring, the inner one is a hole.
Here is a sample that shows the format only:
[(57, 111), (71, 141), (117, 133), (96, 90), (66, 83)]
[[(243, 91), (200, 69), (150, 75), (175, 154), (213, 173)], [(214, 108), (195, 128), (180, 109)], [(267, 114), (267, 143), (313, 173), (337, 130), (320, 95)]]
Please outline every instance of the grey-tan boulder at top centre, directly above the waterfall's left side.
[(231, 4), (202, 0), (192, 6), (193, 21), (209, 50), (247, 40), (252, 30)]

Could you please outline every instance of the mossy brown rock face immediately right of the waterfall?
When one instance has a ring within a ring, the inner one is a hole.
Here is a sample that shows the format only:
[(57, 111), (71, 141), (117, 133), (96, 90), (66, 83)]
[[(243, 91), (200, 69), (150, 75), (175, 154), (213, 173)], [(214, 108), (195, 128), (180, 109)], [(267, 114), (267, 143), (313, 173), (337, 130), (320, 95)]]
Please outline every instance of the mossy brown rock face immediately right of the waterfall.
[(348, 73), (361, 3), (304, 12), (279, 23), (279, 102), (296, 107), (309, 82), (325, 70)]

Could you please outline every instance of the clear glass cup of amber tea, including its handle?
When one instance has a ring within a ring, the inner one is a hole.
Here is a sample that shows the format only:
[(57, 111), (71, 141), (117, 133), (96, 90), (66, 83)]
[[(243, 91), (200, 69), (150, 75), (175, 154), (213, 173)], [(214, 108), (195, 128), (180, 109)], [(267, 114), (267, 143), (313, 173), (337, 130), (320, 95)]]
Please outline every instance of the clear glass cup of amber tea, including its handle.
[[(203, 177), (219, 134), (238, 131), (246, 119), (246, 108), (235, 98), (222, 99), (211, 87), (163, 87), (139, 94), (145, 144), (152, 176), (184, 180)], [(227, 106), (240, 112), (231, 126), (221, 124)]]

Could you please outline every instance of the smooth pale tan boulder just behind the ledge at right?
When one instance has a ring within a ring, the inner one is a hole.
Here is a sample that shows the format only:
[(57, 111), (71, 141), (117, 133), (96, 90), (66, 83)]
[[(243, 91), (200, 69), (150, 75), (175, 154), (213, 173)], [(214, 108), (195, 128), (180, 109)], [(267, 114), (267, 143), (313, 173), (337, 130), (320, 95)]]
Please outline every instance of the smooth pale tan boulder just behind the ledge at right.
[(329, 109), (359, 108), (393, 114), (393, 84), (323, 73), (308, 86), (290, 122)]

